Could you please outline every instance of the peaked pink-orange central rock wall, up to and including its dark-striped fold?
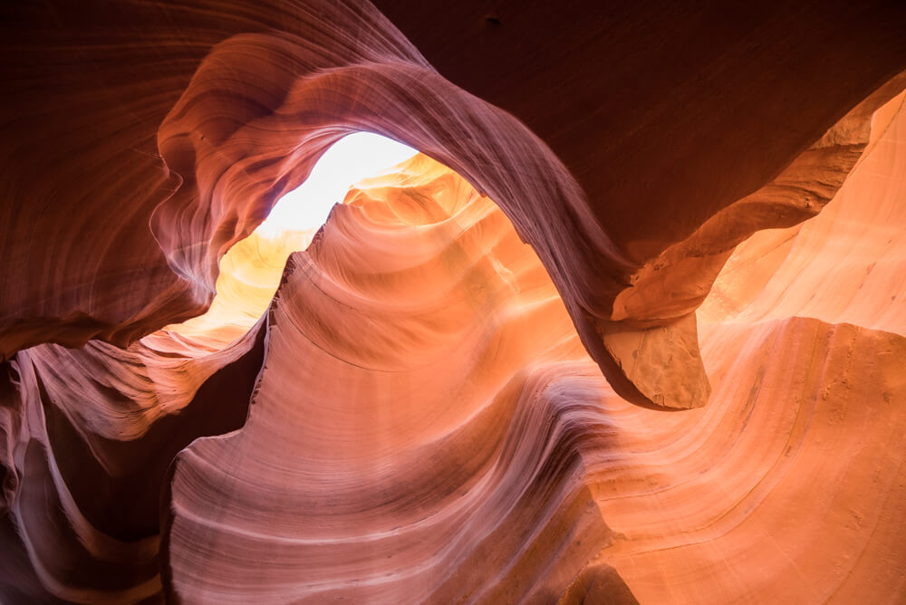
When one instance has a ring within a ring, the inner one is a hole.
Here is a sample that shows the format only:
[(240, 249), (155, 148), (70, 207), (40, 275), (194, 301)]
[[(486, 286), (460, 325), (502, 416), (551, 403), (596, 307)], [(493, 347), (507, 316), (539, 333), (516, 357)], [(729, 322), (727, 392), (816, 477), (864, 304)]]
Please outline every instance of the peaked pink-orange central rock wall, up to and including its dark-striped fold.
[[(606, 541), (564, 305), (496, 206), (427, 163), (292, 256), (246, 426), (177, 458), (174, 595), (550, 598)], [(247, 573), (204, 554), (264, 551)]]

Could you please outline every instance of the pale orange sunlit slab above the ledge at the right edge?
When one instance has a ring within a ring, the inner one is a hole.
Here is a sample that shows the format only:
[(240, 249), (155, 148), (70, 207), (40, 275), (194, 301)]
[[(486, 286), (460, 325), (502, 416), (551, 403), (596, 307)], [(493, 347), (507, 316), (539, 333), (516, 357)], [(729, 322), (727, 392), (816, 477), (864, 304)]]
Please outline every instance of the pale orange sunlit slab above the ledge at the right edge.
[(702, 317), (762, 322), (804, 315), (906, 336), (903, 99), (876, 115), (878, 140), (833, 205), (801, 226), (758, 233), (737, 247)]

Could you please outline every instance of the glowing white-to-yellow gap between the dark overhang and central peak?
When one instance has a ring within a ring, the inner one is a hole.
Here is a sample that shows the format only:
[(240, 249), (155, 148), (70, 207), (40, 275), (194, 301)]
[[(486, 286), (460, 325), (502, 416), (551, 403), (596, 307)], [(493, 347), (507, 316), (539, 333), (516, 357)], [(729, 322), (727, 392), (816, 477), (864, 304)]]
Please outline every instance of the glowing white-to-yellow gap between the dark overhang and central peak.
[(281, 197), (252, 235), (220, 259), (217, 295), (207, 312), (171, 324), (164, 331), (182, 336), (181, 340), (187, 341), (184, 344), (202, 350), (220, 349), (236, 341), (267, 310), (286, 259), (311, 244), (350, 188), (363, 179), (392, 173), (417, 153), (371, 132), (356, 132), (334, 143), (302, 186)]

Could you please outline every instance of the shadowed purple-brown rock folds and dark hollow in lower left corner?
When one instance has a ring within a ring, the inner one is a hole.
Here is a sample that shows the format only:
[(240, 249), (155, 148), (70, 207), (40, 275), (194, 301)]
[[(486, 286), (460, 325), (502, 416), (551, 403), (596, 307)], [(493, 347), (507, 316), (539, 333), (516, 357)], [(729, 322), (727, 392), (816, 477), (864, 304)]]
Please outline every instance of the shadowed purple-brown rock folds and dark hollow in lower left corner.
[(263, 335), (198, 358), (178, 342), (165, 353), (43, 344), (5, 364), (0, 559), (28, 571), (2, 574), (4, 602), (159, 595), (167, 468), (196, 437), (242, 426)]

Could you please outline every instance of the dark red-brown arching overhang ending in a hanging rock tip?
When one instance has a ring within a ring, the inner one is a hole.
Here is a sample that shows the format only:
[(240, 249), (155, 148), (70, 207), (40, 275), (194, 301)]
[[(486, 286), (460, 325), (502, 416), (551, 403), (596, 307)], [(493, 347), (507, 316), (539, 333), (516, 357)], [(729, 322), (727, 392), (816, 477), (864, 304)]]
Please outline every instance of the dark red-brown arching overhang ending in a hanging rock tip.
[[(103, 18), (90, 28), (82, 23), (84, 6), (74, 13), (54, 8), (52, 14), (40, 7), (7, 9), (13, 14), (5, 19), (10, 30), (3, 62), (10, 84), (5, 109), (21, 119), (5, 125), (2, 138), (9, 141), (10, 192), (19, 193), (5, 206), (9, 235), (0, 258), (8, 266), (0, 294), (5, 309), (0, 349), (9, 357), (42, 341), (78, 345), (100, 338), (123, 345), (161, 324), (197, 315), (210, 303), (220, 256), (251, 233), (276, 198), (304, 180), (331, 143), (354, 130), (371, 130), (439, 159), (496, 201), (535, 248), (583, 344), (623, 397), (670, 408), (702, 405), (708, 380), (691, 314), (695, 303), (682, 294), (664, 309), (657, 286), (651, 295), (632, 297), (631, 312), (614, 303), (633, 283), (647, 283), (646, 267), (660, 266), (663, 254), (670, 257), (678, 245), (686, 250), (683, 243), (712, 216), (765, 187), (810, 146), (824, 147), (825, 133), (864, 99), (876, 107), (897, 92), (872, 94), (906, 67), (901, 11), (891, 14), (881, 4), (841, 15), (817, 4), (798, 15), (820, 25), (805, 36), (788, 18), (771, 22), (776, 9), (766, 7), (746, 25), (742, 43), (713, 40), (710, 50), (719, 53), (718, 62), (709, 62), (699, 49), (688, 53), (698, 62), (692, 65), (701, 70), (699, 82), (691, 78), (678, 91), (652, 98), (694, 100), (699, 110), (684, 107), (677, 113), (645, 104), (647, 117), (606, 130), (609, 138), (622, 136), (625, 143), (617, 148), (622, 160), (606, 164), (623, 175), (623, 185), (608, 190), (586, 183), (591, 197), (541, 139), (442, 78), (362, 0), (262, 6), (252, 14), (241, 5), (202, 1), (116, 10), (105, 5), (99, 7)], [(634, 18), (644, 18), (646, 12), (638, 10)], [(726, 18), (711, 11), (709, 18)], [(658, 23), (676, 30), (683, 21), (675, 16), (661, 15)], [(836, 32), (833, 25), (844, 19), (847, 31)], [(695, 33), (698, 15), (686, 21), (688, 29), (680, 30)], [(597, 23), (605, 27), (608, 19)], [(831, 32), (837, 35), (829, 39)], [(751, 70), (735, 71), (750, 63), (750, 39), (788, 44), (763, 53), (762, 73), (769, 75), (758, 81)], [(638, 43), (644, 47), (643, 40)], [(72, 48), (79, 49), (81, 69), (62, 59), (72, 56)], [(111, 62), (111, 49), (122, 50), (119, 62)], [(618, 45), (607, 56), (616, 61), (624, 50)], [(18, 61), (24, 51), (34, 56), (25, 71)], [(641, 60), (654, 65), (661, 58), (655, 48)], [(801, 72), (809, 77), (799, 78)], [(843, 72), (850, 74), (845, 86)], [(726, 82), (716, 82), (720, 74), (729, 74)], [(740, 77), (747, 85), (728, 91)], [(43, 85), (37, 106), (30, 82)], [(665, 90), (670, 82), (664, 82)], [(765, 102), (768, 91), (771, 103)], [(786, 101), (791, 95), (807, 100), (807, 106)], [(752, 120), (740, 122), (740, 110), (752, 103), (757, 103)], [(73, 120), (73, 113), (80, 117)], [(708, 120), (696, 117), (702, 115)], [(674, 118), (670, 127), (651, 131)], [(770, 132), (776, 123), (796, 128), (775, 129), (770, 140), (750, 137)], [(633, 124), (645, 124), (645, 132)], [(730, 149), (705, 144), (718, 139), (715, 129), (737, 132), (721, 140), (738, 142)], [(84, 139), (84, 130), (92, 131), (92, 141)], [(663, 134), (654, 134), (659, 131)], [(669, 145), (661, 142), (665, 138)], [(31, 141), (25, 149), (23, 140)], [(677, 140), (686, 141), (682, 148), (675, 146)], [(708, 153), (678, 170), (673, 154), (689, 144)], [(645, 151), (670, 149), (670, 156), (651, 164), (653, 158), (641, 154), (640, 174), (625, 167), (640, 145)], [(86, 146), (89, 151), (73, 153)], [(59, 157), (48, 157), (50, 147)], [(735, 167), (742, 162), (746, 170), (728, 180), (730, 170), (719, 171), (713, 154)], [(598, 156), (597, 161), (606, 159)], [(673, 168), (664, 165), (670, 158)], [(34, 169), (48, 162), (59, 168), (50, 178), (35, 179)], [(111, 163), (129, 168), (106, 169)], [(819, 164), (818, 173), (836, 169)], [(624, 190), (630, 183), (634, 191), (650, 188), (659, 167), (667, 170), (660, 174), (673, 178), (657, 180), (651, 196)], [(32, 185), (35, 180), (40, 184)], [(666, 195), (664, 187), (673, 193)], [(692, 198), (696, 203), (689, 203)], [(111, 214), (122, 200), (129, 200), (129, 210)], [(32, 236), (48, 214), (68, 220), (44, 227), (54, 245), (38, 254)], [(749, 233), (789, 223), (784, 216), (777, 220), (758, 221)], [(106, 235), (91, 242), (77, 235), (92, 232)], [(728, 237), (712, 234), (704, 254), (719, 256), (744, 236), (737, 230)], [(661, 271), (695, 283), (687, 290), (698, 293), (700, 302), (719, 261), (709, 264), (709, 271), (673, 263)], [(670, 366), (662, 367), (663, 360)], [(655, 373), (660, 379), (651, 382)]]

